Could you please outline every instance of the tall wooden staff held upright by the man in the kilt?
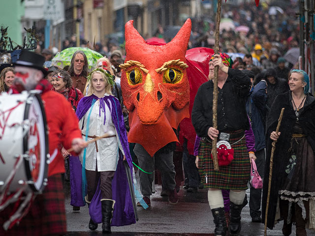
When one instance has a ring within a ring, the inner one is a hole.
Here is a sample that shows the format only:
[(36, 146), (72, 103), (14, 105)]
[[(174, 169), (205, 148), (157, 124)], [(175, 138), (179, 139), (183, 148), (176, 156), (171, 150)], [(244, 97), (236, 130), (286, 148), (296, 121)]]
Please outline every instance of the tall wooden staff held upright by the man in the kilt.
[[(219, 36), (220, 36), (220, 21), (221, 21), (221, 0), (218, 0), (217, 9), (217, 23), (216, 23), (216, 41), (215, 41), (215, 54), (219, 53)], [(215, 77), (213, 78), (213, 103), (212, 103), (212, 123), (215, 129), (218, 129), (218, 73), (219, 66), (215, 67)], [(219, 171), (218, 153), (217, 153), (217, 138), (212, 141), (212, 158), (215, 171)]]

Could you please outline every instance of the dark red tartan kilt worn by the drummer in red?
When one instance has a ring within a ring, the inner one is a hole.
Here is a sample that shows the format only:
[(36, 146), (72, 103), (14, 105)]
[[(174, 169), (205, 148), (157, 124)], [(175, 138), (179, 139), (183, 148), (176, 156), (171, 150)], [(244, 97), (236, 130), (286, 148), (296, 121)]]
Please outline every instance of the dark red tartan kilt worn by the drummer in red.
[(63, 181), (61, 174), (48, 177), (48, 185), (37, 195), (30, 211), (8, 231), (2, 228), (14, 203), (0, 212), (0, 236), (48, 236), (66, 234)]

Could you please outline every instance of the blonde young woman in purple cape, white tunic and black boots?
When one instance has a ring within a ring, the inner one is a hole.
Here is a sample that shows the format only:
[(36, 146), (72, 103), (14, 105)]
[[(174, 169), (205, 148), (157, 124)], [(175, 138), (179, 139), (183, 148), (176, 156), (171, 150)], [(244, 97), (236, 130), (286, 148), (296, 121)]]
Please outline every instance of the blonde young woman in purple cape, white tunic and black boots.
[(135, 223), (123, 165), (126, 161), (132, 171), (132, 160), (121, 106), (111, 93), (112, 76), (97, 68), (88, 81), (88, 95), (80, 100), (76, 111), (82, 137), (86, 141), (107, 137), (89, 144), (79, 157), (70, 158), (70, 204), (82, 207), (86, 202), (91, 216), (89, 229), (96, 230), (102, 223), (102, 232), (111, 233), (111, 225)]

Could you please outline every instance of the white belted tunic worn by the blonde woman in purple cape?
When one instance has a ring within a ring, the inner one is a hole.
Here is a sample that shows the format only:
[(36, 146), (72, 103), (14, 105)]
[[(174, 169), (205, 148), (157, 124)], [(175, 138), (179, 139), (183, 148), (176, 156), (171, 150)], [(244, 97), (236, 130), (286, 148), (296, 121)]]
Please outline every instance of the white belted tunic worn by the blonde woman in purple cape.
[[(105, 95), (109, 95), (106, 94)], [(110, 103), (111, 105), (111, 103)], [(105, 103), (105, 125), (104, 125), (104, 112), (101, 110), (99, 116), (99, 100), (97, 100), (93, 106), (93, 110), (90, 116), (90, 123), (89, 123), (89, 134), (87, 134), (87, 119), (90, 114), (91, 108), (87, 111), (83, 118), (79, 121), (79, 128), (83, 129), (82, 138), (86, 140), (86, 134), (88, 136), (97, 136), (100, 137), (107, 132), (113, 133), (114, 137), (99, 139), (96, 141), (97, 143), (97, 151), (95, 142), (89, 144), (86, 148), (86, 157), (85, 157), (85, 169), (90, 171), (96, 170), (96, 163), (97, 163), (97, 171), (116, 171), (119, 152), (118, 148), (122, 151), (123, 155), (125, 152), (123, 147), (120, 143), (118, 132), (116, 131), (115, 125), (112, 122), (112, 116), (110, 113), (110, 109), (107, 104)], [(115, 108), (114, 108), (115, 109)], [(83, 123), (84, 122), (84, 123)], [(93, 138), (87, 138), (87, 141), (92, 140)], [(82, 163), (84, 151), (81, 151), (80, 160)]]

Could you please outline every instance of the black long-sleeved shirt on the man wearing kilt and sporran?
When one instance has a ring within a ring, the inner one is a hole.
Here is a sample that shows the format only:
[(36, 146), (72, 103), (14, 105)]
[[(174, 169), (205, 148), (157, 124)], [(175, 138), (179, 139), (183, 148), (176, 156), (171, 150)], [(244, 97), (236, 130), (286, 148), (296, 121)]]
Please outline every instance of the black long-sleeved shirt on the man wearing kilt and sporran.
[[(191, 121), (199, 137), (207, 137), (212, 124), (213, 81), (202, 84), (196, 94)], [(251, 88), (250, 78), (241, 70), (228, 69), (228, 77), (222, 87), (218, 88), (218, 130), (248, 130), (245, 103)]]

